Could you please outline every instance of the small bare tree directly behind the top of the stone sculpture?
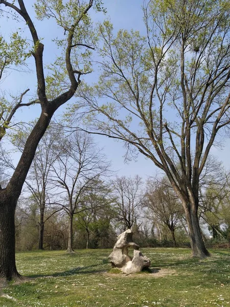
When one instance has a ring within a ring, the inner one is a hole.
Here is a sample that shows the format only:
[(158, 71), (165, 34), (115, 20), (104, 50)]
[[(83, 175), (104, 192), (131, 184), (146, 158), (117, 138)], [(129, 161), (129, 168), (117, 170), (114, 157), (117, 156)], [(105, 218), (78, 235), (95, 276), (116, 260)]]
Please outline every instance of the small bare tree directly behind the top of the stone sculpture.
[(121, 223), (123, 231), (131, 229), (139, 215), (139, 209), (144, 200), (142, 185), (142, 179), (138, 175), (134, 178), (117, 177), (112, 182), (112, 190), (116, 199), (114, 204), (117, 212), (116, 220)]

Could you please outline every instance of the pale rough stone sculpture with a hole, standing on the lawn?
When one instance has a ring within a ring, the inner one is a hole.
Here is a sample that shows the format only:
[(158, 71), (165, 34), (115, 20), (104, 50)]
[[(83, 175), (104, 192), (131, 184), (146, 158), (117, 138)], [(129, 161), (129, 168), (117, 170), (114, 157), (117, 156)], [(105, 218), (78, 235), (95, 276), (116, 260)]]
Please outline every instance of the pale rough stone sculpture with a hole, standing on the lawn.
[[(143, 268), (148, 268), (150, 259), (143, 256), (139, 251), (139, 246), (133, 242), (133, 232), (128, 229), (118, 236), (117, 243), (109, 255), (112, 268), (118, 268), (126, 274), (141, 272)], [(133, 258), (128, 254), (128, 248), (133, 248)]]

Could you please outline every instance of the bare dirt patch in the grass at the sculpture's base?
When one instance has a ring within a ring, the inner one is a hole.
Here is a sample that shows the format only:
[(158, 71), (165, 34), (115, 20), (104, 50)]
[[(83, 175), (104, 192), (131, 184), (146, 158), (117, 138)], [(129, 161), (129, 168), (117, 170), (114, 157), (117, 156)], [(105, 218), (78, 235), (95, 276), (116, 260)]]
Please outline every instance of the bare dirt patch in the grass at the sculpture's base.
[(165, 277), (170, 275), (177, 275), (175, 270), (171, 269), (160, 269), (160, 268), (150, 268), (151, 272), (144, 272), (144, 273), (136, 273), (136, 274), (113, 274), (113, 273), (104, 273), (106, 276), (110, 277), (128, 277), (128, 278), (158, 278), (158, 277)]

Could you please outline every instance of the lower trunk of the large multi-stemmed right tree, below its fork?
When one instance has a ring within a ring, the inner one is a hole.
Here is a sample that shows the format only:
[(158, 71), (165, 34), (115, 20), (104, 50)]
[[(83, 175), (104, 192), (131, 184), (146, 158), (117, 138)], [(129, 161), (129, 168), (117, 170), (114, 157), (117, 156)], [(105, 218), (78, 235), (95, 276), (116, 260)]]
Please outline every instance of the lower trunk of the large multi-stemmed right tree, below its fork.
[(210, 253), (208, 252), (208, 250), (206, 250), (203, 242), (199, 220), (198, 220), (197, 208), (198, 206), (196, 206), (195, 204), (186, 205), (185, 209), (186, 220), (189, 229), (189, 238), (192, 248), (192, 256), (205, 258), (210, 256)]

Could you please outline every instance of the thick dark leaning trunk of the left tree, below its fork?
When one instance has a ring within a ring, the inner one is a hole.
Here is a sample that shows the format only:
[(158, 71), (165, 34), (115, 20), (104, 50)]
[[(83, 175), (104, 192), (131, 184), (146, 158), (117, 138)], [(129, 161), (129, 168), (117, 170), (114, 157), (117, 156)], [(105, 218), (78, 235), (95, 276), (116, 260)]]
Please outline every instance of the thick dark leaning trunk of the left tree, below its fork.
[(24, 151), (6, 189), (0, 189), (0, 278), (20, 277), (15, 265), (14, 213), (22, 186), (33, 161), (37, 145), (47, 129), (51, 117), (43, 113), (27, 139)]

